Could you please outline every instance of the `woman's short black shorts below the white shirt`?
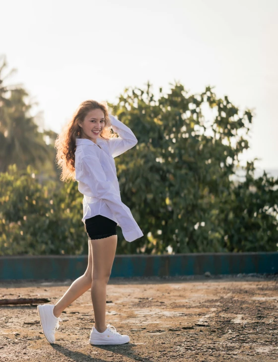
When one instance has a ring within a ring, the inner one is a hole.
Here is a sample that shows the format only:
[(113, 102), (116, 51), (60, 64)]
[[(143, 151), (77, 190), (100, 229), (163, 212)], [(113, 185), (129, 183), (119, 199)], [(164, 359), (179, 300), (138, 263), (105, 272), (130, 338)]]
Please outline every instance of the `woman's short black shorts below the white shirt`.
[(102, 215), (86, 218), (84, 226), (89, 239), (102, 239), (117, 235), (117, 222)]

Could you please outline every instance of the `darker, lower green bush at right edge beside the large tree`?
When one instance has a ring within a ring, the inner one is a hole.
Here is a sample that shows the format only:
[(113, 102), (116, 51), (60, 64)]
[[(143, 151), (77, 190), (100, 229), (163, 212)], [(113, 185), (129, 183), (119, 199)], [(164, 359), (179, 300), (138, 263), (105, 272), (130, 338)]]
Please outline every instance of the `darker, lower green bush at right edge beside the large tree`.
[(255, 179), (248, 162), (244, 182), (223, 195), (218, 217), (227, 251), (277, 251), (278, 181), (264, 171)]

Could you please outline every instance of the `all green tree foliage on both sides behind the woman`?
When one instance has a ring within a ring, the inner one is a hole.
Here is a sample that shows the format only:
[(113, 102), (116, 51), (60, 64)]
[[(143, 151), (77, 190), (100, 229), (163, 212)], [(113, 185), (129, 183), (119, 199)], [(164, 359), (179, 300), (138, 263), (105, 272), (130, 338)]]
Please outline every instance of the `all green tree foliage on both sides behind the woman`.
[[(0, 255), (87, 253), (77, 182), (41, 182), (36, 164), (44, 145), (27, 115), (25, 93), (4, 97), (1, 84)], [(146, 89), (127, 88), (110, 104), (138, 139), (115, 162), (122, 200), (144, 233), (129, 243), (118, 227), (117, 254), (163, 254), (169, 246), (173, 253), (277, 251), (278, 180), (266, 173), (255, 179), (256, 159), (247, 163), (245, 181), (233, 180), (249, 148), (253, 112), (217, 98), (209, 86), (192, 95), (171, 85), (167, 94), (160, 88), (157, 99), (149, 82)], [(10, 127), (13, 141), (3, 127)], [(51, 164), (56, 134), (44, 135)]]

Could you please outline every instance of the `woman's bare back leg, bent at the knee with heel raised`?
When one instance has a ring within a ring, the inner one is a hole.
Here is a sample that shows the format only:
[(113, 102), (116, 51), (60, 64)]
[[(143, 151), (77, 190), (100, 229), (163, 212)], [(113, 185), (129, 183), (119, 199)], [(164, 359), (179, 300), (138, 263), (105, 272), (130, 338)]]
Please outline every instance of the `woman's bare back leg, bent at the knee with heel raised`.
[(55, 304), (53, 309), (53, 314), (55, 317), (59, 317), (67, 306), (70, 305), (75, 299), (77, 299), (80, 295), (82, 295), (85, 291), (91, 288), (92, 285), (92, 252), (91, 252), (91, 243), (89, 243), (89, 254), (88, 254), (88, 266), (83, 275), (77, 278), (70, 286), (70, 288), (66, 291), (66, 293), (62, 296), (62, 298)]

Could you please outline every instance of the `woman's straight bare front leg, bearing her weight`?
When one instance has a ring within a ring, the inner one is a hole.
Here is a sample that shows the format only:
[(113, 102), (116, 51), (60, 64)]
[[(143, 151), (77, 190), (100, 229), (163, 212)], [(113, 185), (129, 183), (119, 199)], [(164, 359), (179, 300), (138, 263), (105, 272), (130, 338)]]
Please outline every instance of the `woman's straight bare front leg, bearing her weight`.
[(117, 235), (91, 240), (93, 273), (91, 297), (94, 309), (95, 328), (106, 330), (106, 286), (109, 281), (117, 247)]

